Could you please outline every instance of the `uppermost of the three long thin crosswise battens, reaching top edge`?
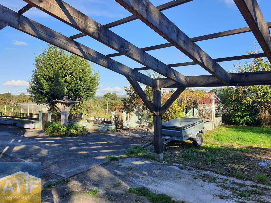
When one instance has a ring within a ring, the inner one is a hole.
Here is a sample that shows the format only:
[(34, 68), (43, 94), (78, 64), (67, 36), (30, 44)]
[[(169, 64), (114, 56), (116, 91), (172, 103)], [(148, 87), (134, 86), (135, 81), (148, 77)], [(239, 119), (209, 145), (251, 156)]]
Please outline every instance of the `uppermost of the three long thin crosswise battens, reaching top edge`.
[[(166, 9), (173, 8), (175, 6), (185, 4), (185, 3), (189, 2), (189, 1), (193, 1), (193, 0), (174, 0), (174, 1), (170, 1), (170, 2), (167, 2), (165, 4), (162, 4), (162, 5), (159, 5), (156, 8), (158, 8), (159, 11), (164, 11)], [(137, 19), (137, 17), (135, 17), (134, 15), (131, 15), (131, 16), (128, 16), (126, 18), (122, 18), (120, 20), (105, 24), (104, 27), (105, 28), (112, 28), (112, 27), (115, 27), (115, 26), (130, 22), (130, 21), (133, 21), (135, 19)], [(84, 37), (84, 36), (86, 36), (85, 33), (79, 33), (79, 34), (70, 36), (70, 38), (74, 40), (74, 39), (77, 39), (79, 37)]]

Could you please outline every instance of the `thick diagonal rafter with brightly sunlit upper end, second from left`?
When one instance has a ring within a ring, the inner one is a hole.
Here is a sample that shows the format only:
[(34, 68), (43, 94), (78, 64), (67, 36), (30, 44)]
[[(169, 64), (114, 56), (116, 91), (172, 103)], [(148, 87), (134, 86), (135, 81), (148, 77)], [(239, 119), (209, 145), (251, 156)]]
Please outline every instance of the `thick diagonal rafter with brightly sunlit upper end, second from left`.
[(73, 28), (84, 32), (90, 37), (107, 45), (108, 47), (119, 51), (127, 57), (138, 63), (150, 67), (157, 73), (170, 78), (176, 83), (186, 86), (187, 79), (184, 75), (168, 67), (150, 54), (142, 51), (140, 48), (131, 44), (124, 38), (105, 28), (98, 22), (89, 18), (82, 12), (76, 10), (69, 4), (61, 0), (24, 0), (25, 2), (41, 9), (47, 14), (59, 19), (60, 21), (72, 26)]

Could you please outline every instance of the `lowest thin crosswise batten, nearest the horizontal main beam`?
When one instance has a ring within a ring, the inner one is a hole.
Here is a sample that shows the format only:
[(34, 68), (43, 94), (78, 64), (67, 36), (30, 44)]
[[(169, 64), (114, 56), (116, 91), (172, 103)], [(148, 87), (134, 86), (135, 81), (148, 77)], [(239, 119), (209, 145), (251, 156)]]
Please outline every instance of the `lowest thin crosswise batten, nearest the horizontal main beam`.
[[(247, 55), (241, 55), (241, 56), (231, 56), (231, 57), (224, 57), (224, 58), (215, 58), (215, 62), (222, 62), (222, 61), (234, 61), (234, 60), (242, 60), (242, 59), (249, 59), (249, 58), (260, 58), (260, 57), (266, 57), (265, 53), (259, 53), (259, 54), (247, 54)], [(191, 62), (184, 62), (184, 63), (173, 63), (173, 64), (167, 64), (169, 67), (179, 67), (179, 66), (190, 66), (190, 65), (196, 65), (197, 63), (194, 61)], [(149, 70), (150, 68), (142, 67), (142, 68), (134, 68), (134, 70)]]

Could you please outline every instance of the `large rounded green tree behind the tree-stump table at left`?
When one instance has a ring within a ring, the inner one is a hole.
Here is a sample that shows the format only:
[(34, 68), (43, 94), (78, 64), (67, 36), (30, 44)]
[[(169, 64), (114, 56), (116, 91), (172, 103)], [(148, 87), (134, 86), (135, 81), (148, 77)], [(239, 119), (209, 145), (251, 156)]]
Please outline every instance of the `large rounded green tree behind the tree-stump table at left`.
[(27, 92), (36, 104), (61, 100), (63, 96), (81, 103), (96, 93), (98, 72), (93, 70), (92, 63), (79, 56), (49, 44), (41, 54), (35, 55), (34, 65)]

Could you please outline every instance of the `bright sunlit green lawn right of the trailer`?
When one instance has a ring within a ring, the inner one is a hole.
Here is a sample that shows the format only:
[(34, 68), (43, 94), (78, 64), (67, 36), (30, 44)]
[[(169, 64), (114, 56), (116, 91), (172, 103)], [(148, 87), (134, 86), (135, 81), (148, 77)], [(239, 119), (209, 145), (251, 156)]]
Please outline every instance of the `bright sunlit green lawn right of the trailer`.
[(270, 127), (222, 125), (205, 133), (204, 140), (271, 148)]

